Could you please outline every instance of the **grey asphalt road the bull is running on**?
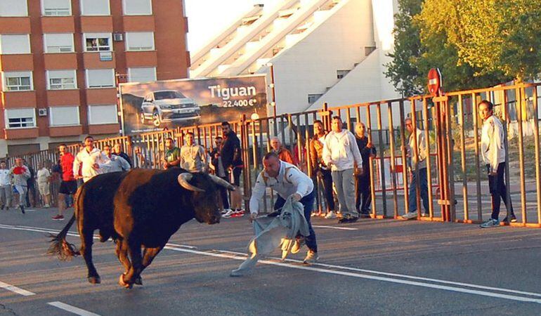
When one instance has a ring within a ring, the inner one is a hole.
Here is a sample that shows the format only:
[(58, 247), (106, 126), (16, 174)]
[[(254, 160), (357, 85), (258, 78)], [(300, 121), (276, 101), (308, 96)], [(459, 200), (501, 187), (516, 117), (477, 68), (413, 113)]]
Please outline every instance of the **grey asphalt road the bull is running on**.
[(317, 218), (318, 264), (302, 265), (301, 250), (234, 278), (252, 236), (247, 219), (192, 220), (144, 285), (123, 289), (112, 242), (94, 247), (102, 284), (86, 282), (82, 258), (45, 255), (46, 232), (66, 223), (55, 213), (0, 211), (0, 315), (541, 315), (539, 229)]

